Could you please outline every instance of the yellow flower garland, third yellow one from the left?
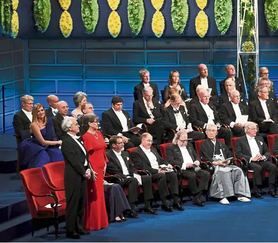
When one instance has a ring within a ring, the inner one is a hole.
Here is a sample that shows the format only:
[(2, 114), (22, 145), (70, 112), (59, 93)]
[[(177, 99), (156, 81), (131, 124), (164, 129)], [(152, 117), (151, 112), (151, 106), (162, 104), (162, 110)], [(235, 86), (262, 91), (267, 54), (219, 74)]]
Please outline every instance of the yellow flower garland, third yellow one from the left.
[(110, 35), (116, 38), (120, 34), (122, 27), (121, 18), (115, 11), (120, 4), (120, 0), (108, 0), (108, 4), (113, 10), (108, 18), (108, 30)]

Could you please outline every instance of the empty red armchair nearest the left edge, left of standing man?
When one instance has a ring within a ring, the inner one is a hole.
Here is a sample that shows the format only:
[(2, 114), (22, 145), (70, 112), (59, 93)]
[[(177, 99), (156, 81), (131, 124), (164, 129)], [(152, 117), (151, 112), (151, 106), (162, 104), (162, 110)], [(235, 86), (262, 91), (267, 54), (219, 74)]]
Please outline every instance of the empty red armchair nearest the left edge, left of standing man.
[[(52, 192), (62, 191), (51, 187), (45, 180), (41, 168), (32, 168), (20, 173), (23, 189), (33, 221), (33, 232), (41, 227), (55, 225), (55, 236), (58, 238), (59, 222), (64, 221), (66, 204), (58, 205), (58, 200)], [(51, 204), (51, 208), (46, 205)]]

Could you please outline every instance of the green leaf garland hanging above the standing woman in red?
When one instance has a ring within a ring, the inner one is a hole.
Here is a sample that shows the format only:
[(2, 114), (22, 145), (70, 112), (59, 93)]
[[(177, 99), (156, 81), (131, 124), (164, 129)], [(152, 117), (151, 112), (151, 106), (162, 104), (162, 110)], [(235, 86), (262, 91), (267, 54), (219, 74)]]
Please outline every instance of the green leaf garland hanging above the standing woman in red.
[(97, 25), (99, 9), (97, 0), (82, 0), (81, 15), (87, 34), (92, 34)]

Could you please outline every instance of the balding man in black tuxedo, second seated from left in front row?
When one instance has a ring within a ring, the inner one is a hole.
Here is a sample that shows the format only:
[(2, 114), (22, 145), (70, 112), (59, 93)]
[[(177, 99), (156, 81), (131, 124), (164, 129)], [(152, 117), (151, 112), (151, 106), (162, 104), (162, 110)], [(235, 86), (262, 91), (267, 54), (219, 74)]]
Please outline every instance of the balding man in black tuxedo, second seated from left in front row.
[[(148, 132), (143, 133), (141, 137), (141, 145), (138, 149), (131, 152), (132, 163), (136, 168), (146, 169), (151, 173), (151, 180), (156, 183), (158, 187), (162, 201), (162, 210), (172, 212), (173, 208), (175, 208), (184, 211), (184, 207), (179, 203), (177, 174), (174, 171), (166, 172), (166, 169), (172, 169), (173, 167), (158, 154), (155, 148), (151, 147), (152, 136)], [(160, 168), (161, 165), (165, 165), (167, 168)], [(167, 184), (170, 185), (171, 194), (173, 196), (173, 208), (171, 208), (166, 201), (166, 197), (169, 195)]]

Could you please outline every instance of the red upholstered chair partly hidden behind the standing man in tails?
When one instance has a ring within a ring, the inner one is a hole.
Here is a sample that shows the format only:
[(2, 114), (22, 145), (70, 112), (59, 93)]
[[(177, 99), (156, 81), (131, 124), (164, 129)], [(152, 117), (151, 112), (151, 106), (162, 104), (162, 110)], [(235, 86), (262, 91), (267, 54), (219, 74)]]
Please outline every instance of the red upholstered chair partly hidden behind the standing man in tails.
[(55, 191), (54, 194), (59, 203), (66, 203), (64, 186), (65, 161), (49, 163), (43, 166), (46, 180), (51, 187), (63, 188), (62, 191)]

